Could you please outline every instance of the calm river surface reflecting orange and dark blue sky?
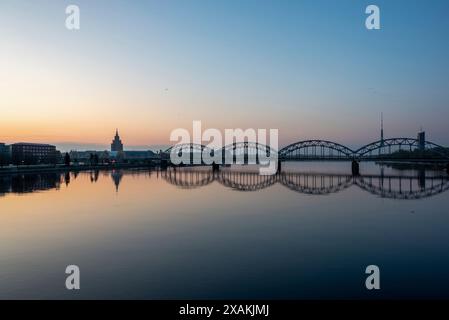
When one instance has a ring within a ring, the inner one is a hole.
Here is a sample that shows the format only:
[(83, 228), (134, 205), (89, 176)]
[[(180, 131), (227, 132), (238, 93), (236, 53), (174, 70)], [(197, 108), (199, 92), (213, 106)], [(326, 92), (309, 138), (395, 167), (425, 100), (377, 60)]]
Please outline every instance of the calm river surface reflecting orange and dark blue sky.
[[(0, 176), (0, 298), (448, 298), (448, 175), (361, 172)], [(370, 264), (379, 291), (365, 289)]]

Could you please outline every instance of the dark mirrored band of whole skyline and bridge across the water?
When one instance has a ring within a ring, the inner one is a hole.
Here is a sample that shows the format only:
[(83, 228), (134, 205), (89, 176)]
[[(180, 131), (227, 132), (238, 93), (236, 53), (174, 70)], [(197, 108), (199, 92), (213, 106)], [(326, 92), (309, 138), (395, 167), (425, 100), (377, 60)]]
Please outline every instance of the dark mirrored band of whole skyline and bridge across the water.
[[(258, 172), (244, 170), (221, 170), (184, 168), (168, 170), (113, 170), (104, 171), (103, 176), (110, 177), (114, 189), (119, 193), (120, 183), (125, 176), (155, 173), (168, 184), (181, 189), (207, 187), (217, 182), (221, 186), (239, 192), (254, 192), (269, 189), (274, 185), (282, 185), (290, 191), (305, 195), (330, 195), (343, 192), (352, 186), (375, 196), (391, 199), (421, 199), (449, 190), (449, 175), (431, 171), (426, 175), (424, 169), (416, 173), (405, 174), (367, 174), (353, 176), (345, 173), (296, 172), (287, 171), (272, 176), (259, 175)], [(55, 189), (61, 184), (67, 187), (77, 178), (79, 172), (41, 173), (0, 176), (0, 196), (15, 193), (31, 193)], [(100, 171), (93, 170), (81, 173), (88, 176), (91, 183), (99, 180)]]

